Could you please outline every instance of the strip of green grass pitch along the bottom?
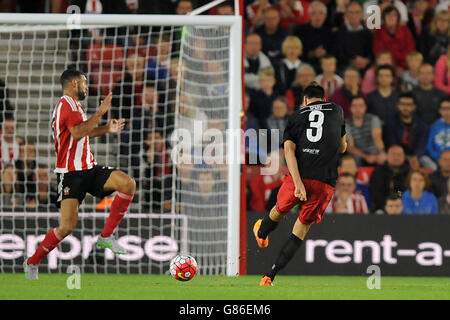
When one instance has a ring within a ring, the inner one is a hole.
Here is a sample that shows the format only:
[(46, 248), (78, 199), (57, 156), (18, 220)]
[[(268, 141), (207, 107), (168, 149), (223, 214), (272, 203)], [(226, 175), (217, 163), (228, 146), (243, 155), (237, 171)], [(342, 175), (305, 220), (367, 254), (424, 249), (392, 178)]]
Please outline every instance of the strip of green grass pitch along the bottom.
[(69, 290), (70, 274), (0, 274), (0, 299), (125, 300), (372, 300), (450, 299), (450, 278), (381, 277), (369, 290), (367, 277), (277, 276), (259, 287), (260, 276), (202, 276), (179, 282), (169, 275), (81, 274), (81, 288)]

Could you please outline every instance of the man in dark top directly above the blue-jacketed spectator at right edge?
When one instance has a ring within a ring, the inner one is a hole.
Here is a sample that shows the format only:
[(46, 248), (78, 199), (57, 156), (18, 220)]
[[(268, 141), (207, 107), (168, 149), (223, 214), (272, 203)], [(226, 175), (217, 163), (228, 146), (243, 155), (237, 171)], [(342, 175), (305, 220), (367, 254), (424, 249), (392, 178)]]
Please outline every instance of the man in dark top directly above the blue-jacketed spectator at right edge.
[(417, 114), (429, 127), (439, 118), (439, 104), (445, 97), (445, 92), (433, 85), (434, 70), (429, 63), (424, 63), (419, 68), (419, 86), (412, 90), (417, 104)]

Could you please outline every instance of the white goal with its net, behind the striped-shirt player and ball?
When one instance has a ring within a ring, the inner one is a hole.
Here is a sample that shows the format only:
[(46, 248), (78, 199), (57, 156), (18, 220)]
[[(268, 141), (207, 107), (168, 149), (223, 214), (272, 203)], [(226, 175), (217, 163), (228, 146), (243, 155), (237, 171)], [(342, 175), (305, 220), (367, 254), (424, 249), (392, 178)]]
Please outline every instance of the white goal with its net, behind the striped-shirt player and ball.
[[(75, 32), (78, 32), (78, 37), (74, 36)], [(89, 33), (90, 37), (80, 36), (84, 33)], [(131, 45), (134, 37), (147, 39), (148, 42), (142, 44), (143, 48), (136, 49), (140, 44), (136, 44), (135, 47)], [(25, 142), (34, 144), (37, 163), (47, 165), (49, 170), (55, 167), (53, 144), (49, 138), (50, 122), (52, 110), (61, 96), (58, 79), (65, 68), (74, 65), (86, 71), (90, 94), (87, 102), (83, 103), (85, 107), (87, 104), (87, 113), (90, 114), (98, 107), (104, 92), (113, 90), (115, 84), (125, 74), (127, 59), (130, 57), (129, 50), (143, 49), (139, 52), (144, 52), (146, 62), (152, 59), (159, 61), (160, 58), (162, 61), (164, 53), (158, 46), (164, 41), (168, 41), (172, 48), (169, 60), (165, 60), (162, 64), (166, 68), (166, 77), (159, 73), (150, 76), (147, 66), (142, 84), (145, 87), (153, 77), (152, 81), (160, 98), (158, 107), (160, 110), (168, 110), (153, 115), (155, 118), (160, 117), (162, 135), (169, 140), (171, 131), (177, 129), (177, 126), (186, 124), (186, 121), (181, 119), (183, 114), (180, 113), (180, 107), (183, 105), (195, 107), (198, 119), (203, 119), (207, 128), (217, 125), (218, 130), (222, 130), (224, 134), (227, 130), (230, 132), (240, 130), (242, 109), (240, 16), (1, 13), (2, 74), (5, 76), (6, 87), (10, 93), (10, 102), (15, 107), (18, 135), (25, 138)], [(97, 60), (92, 60), (93, 57)], [(175, 75), (176, 72), (171, 73), (170, 70), (171, 67), (175, 67), (171, 62), (176, 59), (178, 59), (178, 76)], [(173, 82), (176, 86), (173, 86)], [(146, 87), (142, 90), (145, 89)], [(130, 90), (131, 96), (141, 94), (135, 91), (138, 90), (136, 87)], [(116, 97), (126, 98), (130, 92), (119, 88)], [(144, 101), (143, 93), (141, 97)], [(171, 107), (174, 109), (170, 109)], [(206, 114), (206, 118), (200, 117), (202, 114)], [(130, 123), (133, 121), (136, 123), (141, 121), (141, 118), (132, 114), (129, 120)], [(153, 148), (158, 139), (155, 137), (157, 131), (155, 127), (152, 127), (150, 132), (141, 128), (138, 132), (141, 139), (139, 143), (144, 144), (145, 148)], [(131, 139), (129, 145), (132, 146), (135, 141), (131, 131), (128, 139)], [(241, 139), (227, 139), (225, 156), (235, 159), (236, 155), (241, 153), (241, 143)], [(164, 160), (160, 160), (161, 163), (147, 161), (150, 153), (145, 148), (137, 153), (131, 147), (127, 152), (122, 152), (121, 148), (128, 146), (123, 135), (108, 136), (106, 141), (92, 139), (91, 145), (99, 164), (123, 169), (121, 167), (123, 160), (127, 164), (125, 169), (137, 179), (138, 201), (132, 204), (130, 209), (132, 213), (180, 214), (187, 217), (187, 223), (183, 224), (178, 223), (176, 219), (161, 218), (160, 224), (154, 226), (142, 222), (149, 220), (136, 219), (138, 222), (128, 225), (130, 230), (120, 231), (123, 232), (122, 235), (131, 232), (139, 236), (141, 232), (139, 228), (142, 228), (147, 233), (152, 231), (152, 236), (169, 234), (181, 242), (183, 240), (179, 234), (184, 233), (180, 228), (187, 225), (186, 253), (196, 258), (200, 273), (228, 276), (239, 273), (241, 165), (239, 162), (228, 161), (225, 167), (220, 168), (202, 166), (190, 168), (196, 178), (185, 183), (186, 180), (180, 175), (181, 168), (172, 164), (171, 172), (166, 172)], [(160, 154), (155, 151), (155, 159), (163, 153), (164, 151)], [(139, 158), (138, 164), (133, 162), (135, 157)], [(134, 172), (138, 178), (132, 174)], [(148, 172), (152, 174), (150, 178)], [(210, 190), (214, 200), (202, 203), (203, 200), (200, 201), (198, 196), (207, 191), (201, 191), (203, 189), (199, 191), (200, 186), (196, 184), (195, 179), (200, 179), (199, 177), (206, 172), (214, 173), (215, 185), (213, 190)], [(153, 176), (156, 174), (160, 175), (159, 181)], [(52, 174), (50, 177), (54, 183), (55, 177)], [(155, 194), (158, 194), (160, 199)], [(80, 208), (84, 212), (93, 212), (99, 210), (96, 209), (97, 204), (97, 200), (88, 197)], [(0, 203), (0, 206), (4, 205), (5, 203)], [(143, 205), (146, 209), (142, 209)], [(45, 212), (51, 211), (51, 205), (39, 206), (33, 210), (45, 216)], [(17, 222), (14, 222), (15, 219), (18, 219)], [(30, 219), (35, 219), (35, 223), (31, 223)], [(52, 215), (48, 216), (47, 225), (42, 224), (43, 219), (42, 216), (30, 216), (24, 223), (23, 217), (0, 215), (0, 234), (18, 232), (25, 239), (27, 235), (42, 234), (50, 227), (56, 226), (57, 221)], [(155, 220), (157, 219), (152, 221)], [(5, 224), (6, 221), (11, 224)], [(6, 230), (6, 225), (12, 230)], [(20, 227), (17, 227), (19, 225), (24, 230), (20, 230)], [(91, 228), (92, 232), (96, 227), (84, 222), (78, 225), (78, 228)], [(184, 244), (180, 243), (180, 248), (183, 247)], [(12, 265), (11, 270), (6, 270), (5, 265), (0, 266), (0, 271), (19, 272), (18, 261)], [(149, 263), (157, 264), (155, 261)], [(165, 263), (168, 269), (168, 261)], [(95, 272), (100, 272), (96, 270)], [(146, 268), (141, 265), (127, 265), (126, 271), (130, 270), (142, 272)]]

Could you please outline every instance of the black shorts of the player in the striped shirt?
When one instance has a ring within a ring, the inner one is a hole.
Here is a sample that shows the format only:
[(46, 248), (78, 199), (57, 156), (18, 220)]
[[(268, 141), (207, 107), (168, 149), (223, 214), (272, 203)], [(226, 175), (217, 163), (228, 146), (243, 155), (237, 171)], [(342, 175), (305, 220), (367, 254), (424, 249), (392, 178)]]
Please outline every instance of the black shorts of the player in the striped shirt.
[(58, 198), (57, 205), (60, 207), (64, 199), (78, 199), (81, 204), (89, 192), (94, 197), (104, 198), (114, 192), (103, 189), (106, 181), (113, 171), (117, 169), (105, 166), (94, 166), (89, 170), (70, 171), (57, 173)]

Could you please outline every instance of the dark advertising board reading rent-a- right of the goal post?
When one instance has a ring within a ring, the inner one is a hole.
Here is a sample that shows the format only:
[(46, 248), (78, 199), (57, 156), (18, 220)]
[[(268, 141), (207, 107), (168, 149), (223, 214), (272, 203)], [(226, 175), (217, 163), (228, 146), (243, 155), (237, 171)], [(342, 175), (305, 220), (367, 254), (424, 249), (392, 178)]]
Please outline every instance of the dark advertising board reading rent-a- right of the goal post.
[[(290, 213), (260, 249), (253, 224), (266, 213), (248, 212), (248, 274), (270, 269), (297, 218)], [(450, 276), (450, 216), (325, 215), (314, 224), (294, 259), (280, 274)]]

